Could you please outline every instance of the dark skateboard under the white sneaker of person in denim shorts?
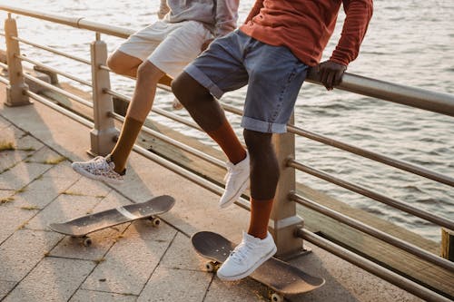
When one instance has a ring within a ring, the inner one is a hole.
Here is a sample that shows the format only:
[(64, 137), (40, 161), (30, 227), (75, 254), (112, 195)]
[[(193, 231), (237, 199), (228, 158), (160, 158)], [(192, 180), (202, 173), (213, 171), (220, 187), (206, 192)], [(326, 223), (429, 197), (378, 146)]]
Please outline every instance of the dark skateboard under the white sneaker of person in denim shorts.
[[(211, 272), (217, 271), (236, 247), (229, 239), (209, 231), (195, 233), (191, 241), (192, 247), (200, 256), (210, 259), (205, 268)], [(281, 302), (285, 296), (302, 294), (325, 283), (323, 278), (311, 276), (278, 258), (268, 259), (249, 277), (271, 289), (273, 302)]]

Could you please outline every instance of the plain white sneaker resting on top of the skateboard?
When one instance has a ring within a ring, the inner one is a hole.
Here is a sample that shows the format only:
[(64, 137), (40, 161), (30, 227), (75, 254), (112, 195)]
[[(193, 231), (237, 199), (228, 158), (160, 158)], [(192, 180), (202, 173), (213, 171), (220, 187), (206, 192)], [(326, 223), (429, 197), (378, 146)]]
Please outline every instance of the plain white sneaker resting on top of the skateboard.
[(276, 245), (270, 233), (265, 239), (255, 238), (247, 233), (242, 234), (242, 243), (233, 249), (229, 258), (218, 269), (217, 275), (226, 281), (245, 278), (259, 268), (263, 262), (276, 253)]

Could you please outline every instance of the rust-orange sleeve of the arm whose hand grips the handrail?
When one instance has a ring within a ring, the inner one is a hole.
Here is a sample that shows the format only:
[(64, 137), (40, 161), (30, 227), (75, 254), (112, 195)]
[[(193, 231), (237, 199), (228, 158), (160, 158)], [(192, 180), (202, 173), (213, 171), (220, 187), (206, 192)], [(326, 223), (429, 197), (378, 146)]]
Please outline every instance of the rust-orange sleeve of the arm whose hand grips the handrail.
[(341, 39), (332, 52), (330, 61), (348, 65), (360, 52), (360, 44), (372, 17), (372, 0), (343, 0), (345, 21)]

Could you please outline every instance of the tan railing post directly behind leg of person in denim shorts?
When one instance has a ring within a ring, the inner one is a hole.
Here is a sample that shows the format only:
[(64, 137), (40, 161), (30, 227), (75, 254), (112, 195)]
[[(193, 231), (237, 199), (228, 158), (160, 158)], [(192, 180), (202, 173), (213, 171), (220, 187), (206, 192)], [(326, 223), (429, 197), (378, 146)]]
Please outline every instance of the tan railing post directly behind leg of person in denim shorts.
[[(291, 123), (293, 123), (291, 116)], [(295, 135), (274, 134), (274, 149), (280, 164), (281, 177), (276, 190), (268, 229), (278, 248), (277, 257), (291, 258), (304, 252), (302, 239), (296, 237), (296, 229), (302, 228), (303, 220), (296, 214), (296, 203), (288, 199), (295, 190), (295, 170), (287, 167), (289, 157), (295, 156)]]

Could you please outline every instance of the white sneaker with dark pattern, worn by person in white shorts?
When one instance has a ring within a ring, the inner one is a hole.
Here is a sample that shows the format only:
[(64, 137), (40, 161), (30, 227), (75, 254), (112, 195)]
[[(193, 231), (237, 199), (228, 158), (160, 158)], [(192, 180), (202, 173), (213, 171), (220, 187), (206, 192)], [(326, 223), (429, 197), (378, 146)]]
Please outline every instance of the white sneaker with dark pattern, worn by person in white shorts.
[(110, 155), (105, 158), (103, 156), (97, 156), (90, 161), (74, 161), (71, 167), (77, 173), (92, 180), (111, 183), (122, 183), (124, 180), (124, 171), (122, 174), (115, 172), (115, 164), (111, 160)]

